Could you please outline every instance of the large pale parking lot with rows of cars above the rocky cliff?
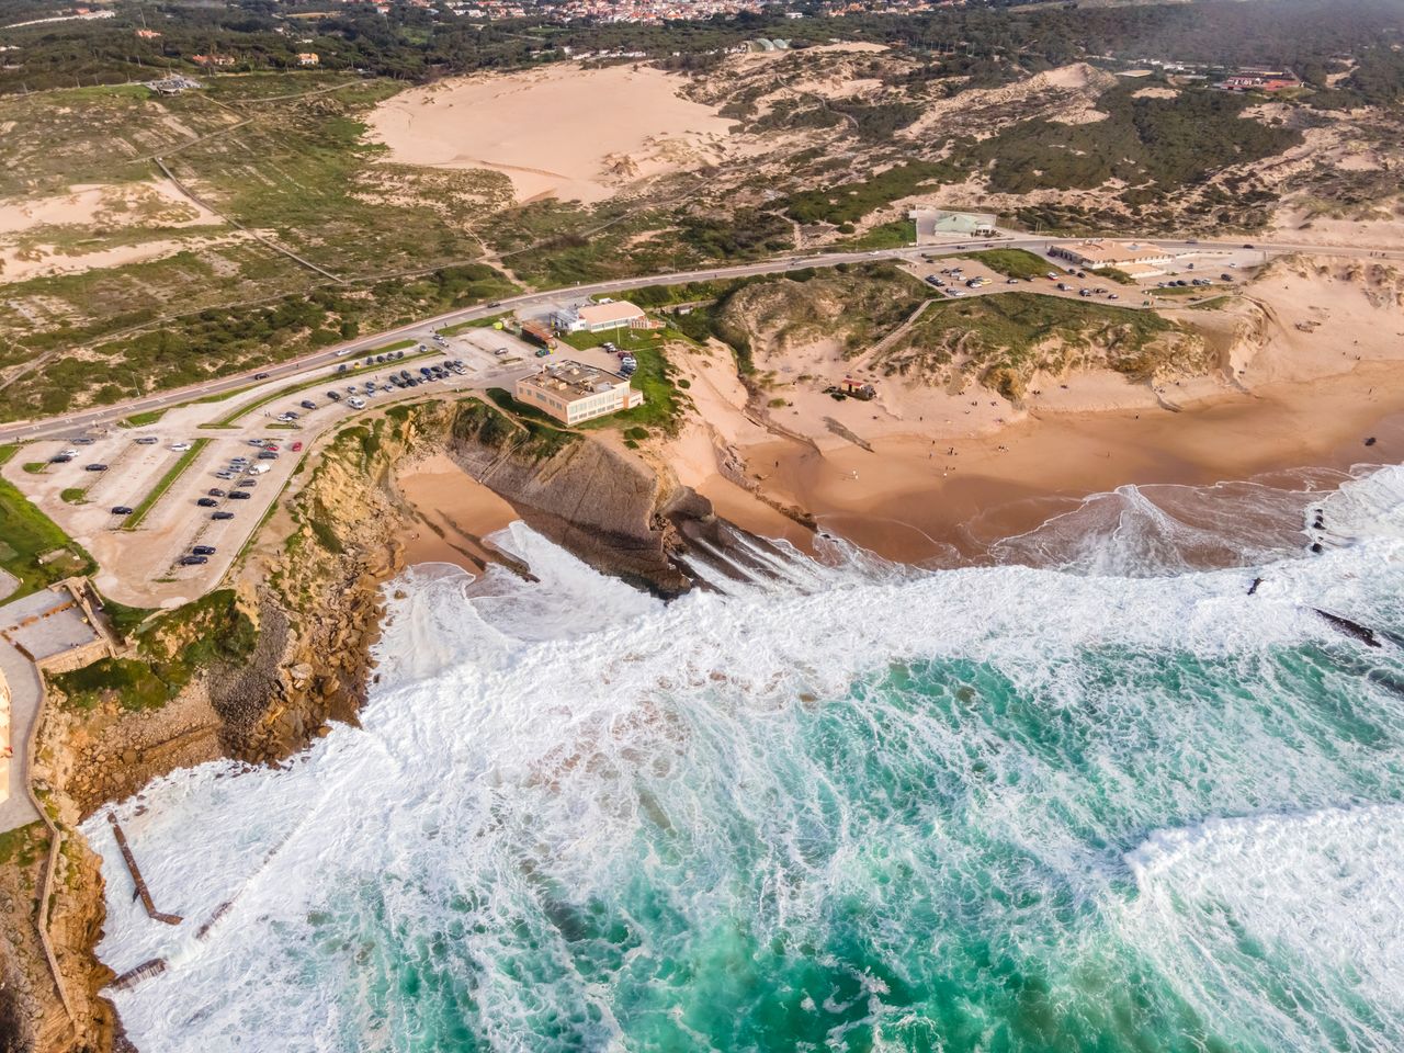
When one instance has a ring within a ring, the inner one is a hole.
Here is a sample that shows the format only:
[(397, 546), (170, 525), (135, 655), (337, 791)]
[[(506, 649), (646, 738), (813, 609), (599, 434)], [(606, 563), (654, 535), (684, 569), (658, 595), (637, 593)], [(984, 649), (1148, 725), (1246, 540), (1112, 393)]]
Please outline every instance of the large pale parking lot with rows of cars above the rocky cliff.
[[(31, 442), (0, 470), (93, 553), (104, 595), (132, 607), (173, 607), (223, 577), (296, 465), (338, 424), (442, 390), (511, 388), (517, 376), (538, 368), (535, 348), (490, 327), (441, 341), (425, 333), (421, 343), (424, 352), (416, 344), (400, 358), (372, 357), (369, 365), (348, 357), (222, 402), (171, 409), (145, 427)], [(498, 348), (507, 354), (496, 354)], [(446, 361), (459, 365), (449, 369)], [(170, 479), (181, 458), (191, 455)], [(147, 500), (163, 483), (168, 489)], [(136, 522), (132, 512), (114, 508), (145, 514)], [(212, 549), (204, 562), (190, 559), (197, 546)]]

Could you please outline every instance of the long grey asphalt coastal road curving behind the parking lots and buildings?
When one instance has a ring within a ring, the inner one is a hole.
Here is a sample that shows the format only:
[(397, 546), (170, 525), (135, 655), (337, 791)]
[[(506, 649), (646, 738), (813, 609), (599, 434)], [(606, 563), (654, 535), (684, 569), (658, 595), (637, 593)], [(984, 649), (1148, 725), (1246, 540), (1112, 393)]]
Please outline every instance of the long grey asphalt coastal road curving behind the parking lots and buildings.
[[(560, 302), (563, 298), (584, 298), (594, 296), (608, 292), (619, 292), (623, 289), (635, 289), (640, 285), (680, 285), (682, 282), (691, 281), (713, 281), (717, 278), (746, 278), (758, 274), (783, 274), (786, 271), (797, 271), (804, 267), (833, 267), (841, 263), (866, 263), (872, 260), (911, 260), (920, 258), (924, 253), (960, 253), (969, 251), (972, 249), (983, 249), (986, 246), (995, 246), (1001, 249), (1028, 249), (1035, 253), (1046, 253), (1050, 244), (1059, 241), (1067, 241), (1066, 237), (1002, 237), (1002, 239), (981, 239), (973, 241), (956, 241), (949, 244), (927, 244), (927, 246), (908, 246), (904, 249), (890, 249), (879, 251), (866, 253), (816, 253), (813, 256), (788, 256), (782, 258), (764, 260), (761, 263), (740, 264), (736, 267), (710, 267), (698, 271), (674, 271), (665, 274), (646, 274), (636, 278), (623, 278), (618, 281), (607, 282), (591, 282), (587, 285), (569, 285), (559, 289), (546, 289), (539, 292), (526, 292), (518, 296), (508, 296), (501, 300), (496, 300), (491, 306), (479, 305), (476, 307), (466, 307), (462, 310), (452, 310), (446, 314), (438, 314), (428, 319), (421, 319), (409, 326), (402, 326), (400, 329), (386, 330), (383, 333), (375, 333), (366, 337), (358, 337), (357, 340), (337, 344), (324, 351), (317, 351), (302, 358), (289, 359), (278, 365), (270, 365), (267, 369), (257, 369), (236, 376), (225, 376), (218, 380), (206, 380), (190, 388), (180, 388), (170, 392), (160, 392), (157, 395), (149, 395), (139, 399), (131, 399), (115, 406), (104, 406), (101, 409), (80, 410), (77, 413), (69, 413), (59, 417), (49, 417), (41, 421), (32, 421), (25, 424), (10, 424), (0, 427), (0, 442), (15, 442), (28, 441), (37, 438), (52, 438), (55, 435), (65, 435), (76, 430), (95, 428), (105, 424), (112, 424), (125, 417), (131, 417), (136, 413), (145, 413), (149, 410), (163, 410), (171, 406), (178, 406), (180, 403), (190, 402), (191, 399), (199, 399), (206, 395), (219, 395), (223, 392), (230, 392), (239, 388), (246, 388), (254, 380), (254, 375), (267, 373), (268, 379), (291, 378), (296, 376), (307, 369), (317, 366), (334, 364), (343, 359), (350, 359), (357, 354), (365, 354), (386, 343), (392, 343), (404, 337), (420, 337), (442, 326), (456, 324), (459, 322), (472, 322), (476, 319), (489, 317), (490, 314), (497, 314), (505, 310), (532, 310), (548, 307), (552, 303)], [(1129, 241), (1133, 239), (1115, 239), (1119, 241)], [(1243, 250), (1244, 243), (1241, 241), (1172, 241), (1164, 239), (1155, 239), (1155, 244), (1164, 246), (1167, 249), (1181, 249), (1181, 250), (1200, 250), (1212, 251), (1214, 249), (1227, 250)], [(1345, 256), (1345, 257), (1360, 257), (1360, 258), (1391, 258), (1404, 260), (1404, 251), (1379, 251), (1372, 249), (1359, 249), (1355, 246), (1306, 246), (1306, 244), (1292, 244), (1285, 241), (1254, 241), (1252, 247), (1264, 254), (1269, 253), (1316, 253), (1316, 254), (1331, 254), (1331, 256)], [(340, 352), (340, 354), (338, 354)]]

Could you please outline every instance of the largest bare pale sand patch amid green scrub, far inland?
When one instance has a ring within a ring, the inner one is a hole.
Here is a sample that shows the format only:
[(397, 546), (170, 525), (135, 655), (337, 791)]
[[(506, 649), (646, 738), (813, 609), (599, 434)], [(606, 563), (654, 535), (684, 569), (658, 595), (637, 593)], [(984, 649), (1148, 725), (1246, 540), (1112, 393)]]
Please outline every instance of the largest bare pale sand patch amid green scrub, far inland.
[(623, 185), (715, 163), (730, 121), (678, 94), (682, 77), (646, 66), (557, 65), (411, 88), (371, 115), (392, 160), (489, 168), (518, 201), (602, 201)]

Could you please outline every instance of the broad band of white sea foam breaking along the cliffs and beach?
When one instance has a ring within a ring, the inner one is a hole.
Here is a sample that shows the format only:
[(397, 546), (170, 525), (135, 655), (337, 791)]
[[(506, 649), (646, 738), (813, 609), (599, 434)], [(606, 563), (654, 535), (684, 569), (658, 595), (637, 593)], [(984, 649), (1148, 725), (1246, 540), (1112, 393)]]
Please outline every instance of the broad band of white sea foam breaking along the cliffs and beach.
[[(521, 524), (497, 542), (536, 580), (494, 569), (475, 581), (441, 569), (395, 585), (361, 729), (336, 729), (282, 769), (204, 765), (117, 806), (157, 906), (185, 924), (149, 920), (131, 899), (107, 823), (94, 816), (84, 826), (108, 882), (100, 958), (118, 973), (152, 958), (170, 963), (114, 994), (143, 1050), (399, 1049), (388, 956), (420, 955), (421, 942), (445, 932), (472, 965), (484, 1040), (519, 1046), (552, 997), (546, 987), (522, 994), (524, 983), (531, 988), (522, 945), (560, 938), (535, 928), (549, 889), (584, 894), (628, 883), (633, 875), (619, 868), (629, 866), (640, 824), (675, 830), (698, 865), (724, 855), (730, 824), (760, 831), (774, 854), (755, 863), (768, 875), (764, 897), (786, 922), (821, 913), (810, 883), (865, 887), (861, 803), (793, 757), (796, 706), (844, 698), (893, 663), (987, 663), (1070, 720), (1105, 723), (1118, 760), (1129, 764), (1146, 727), (1188, 739), (1216, 712), (1195, 699), (1178, 709), (1174, 696), (1102, 689), (1104, 705), (1125, 712), (1087, 713), (1095, 671), (1080, 665), (1080, 654), (1119, 649), (1212, 663), (1309, 642), (1351, 646), (1310, 608), (1353, 611), (1365, 583), (1397, 590), (1404, 574), (1404, 542), (1391, 536), (1282, 562), (1255, 595), (1244, 570), (1158, 580), (1015, 566), (911, 574), (835, 552), (828, 564), (781, 574), (778, 584), (663, 605)], [(991, 741), (979, 722), (958, 734), (869, 701), (875, 748), (893, 737), (899, 761), (906, 753), (969, 755), (966, 769), (979, 761), (979, 778), (997, 779), (1001, 790), (972, 800), (983, 823), (1050, 872), (1090, 870), (1070, 828), (1028, 826), (1038, 796), (1063, 778), (1038, 754)], [(1258, 715), (1250, 708), (1241, 719)], [(907, 737), (900, 750), (899, 736)], [(1299, 753), (1279, 761), (1280, 776), (1293, 775), (1297, 792), (1330, 793), (1328, 755)], [(664, 800), (646, 792), (680, 772), (687, 793)], [(1226, 768), (1224, 799), (1247, 796), (1240, 775)], [(795, 799), (778, 810), (785, 793)], [(1144, 903), (1164, 875), (1185, 872), (1157, 862), (1170, 858), (1171, 842), (1167, 834), (1132, 862), (1151, 875)], [(943, 842), (942, 851), (962, 865), (959, 845)], [(642, 868), (674, 865), (650, 849)], [(701, 924), (726, 892), (712, 887), (717, 880), (703, 866), (694, 899), (674, 907)], [(477, 904), (475, 917), (490, 924), (453, 929), (459, 901)], [(1369, 938), (1365, 914), (1355, 931)], [(358, 932), (382, 938), (365, 942)], [(1328, 936), (1323, 922), (1299, 945), (1307, 953)], [(1377, 943), (1382, 955), (1391, 939)], [(396, 941), (403, 943), (388, 946)], [(453, 969), (452, 981), (469, 983)], [(608, 995), (577, 980), (553, 983), (567, 984), (562, 1002), (594, 1007), (598, 1047), (607, 1047), (618, 1040)], [(879, 1015), (880, 993), (868, 997)]]

